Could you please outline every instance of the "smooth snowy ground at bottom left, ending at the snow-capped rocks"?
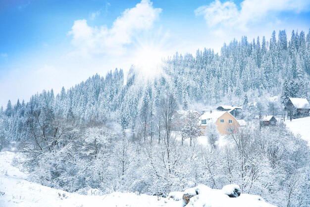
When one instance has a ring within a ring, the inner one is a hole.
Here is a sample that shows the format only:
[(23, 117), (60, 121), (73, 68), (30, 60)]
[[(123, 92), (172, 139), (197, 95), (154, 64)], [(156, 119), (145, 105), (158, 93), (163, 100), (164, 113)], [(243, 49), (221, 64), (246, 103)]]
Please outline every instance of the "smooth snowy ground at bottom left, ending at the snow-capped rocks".
[(26, 174), (11, 165), (14, 156), (13, 152), (0, 152), (0, 207), (158, 207), (168, 204), (166, 199), (157, 201), (155, 196), (119, 192), (84, 196), (32, 183), (26, 180)]

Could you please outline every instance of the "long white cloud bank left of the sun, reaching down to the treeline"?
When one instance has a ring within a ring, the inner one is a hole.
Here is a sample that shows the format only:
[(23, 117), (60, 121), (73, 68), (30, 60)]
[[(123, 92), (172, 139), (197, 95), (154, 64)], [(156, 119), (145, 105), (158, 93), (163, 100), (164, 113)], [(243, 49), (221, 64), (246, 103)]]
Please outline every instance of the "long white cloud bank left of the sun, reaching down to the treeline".
[[(85, 19), (76, 20), (68, 33), (73, 46), (73, 50), (69, 48), (70, 54), (67, 48), (59, 48), (49, 56), (38, 54), (31, 60), (20, 60), (14, 69), (0, 74), (0, 88), (7, 88), (1, 91), (0, 106), (6, 106), (8, 99), (12, 103), (17, 98), (29, 101), (31, 95), (43, 89), (53, 88), (56, 94), (62, 86), (67, 89), (95, 73), (104, 76), (115, 68), (128, 70), (137, 55), (134, 53), (137, 39), (145, 33), (154, 34), (160, 12), (150, 0), (142, 0), (126, 9), (110, 27), (94, 27)], [(104, 15), (103, 9), (100, 15)], [(43, 43), (43, 46), (49, 45)], [(1, 52), (4, 51), (0, 51), (0, 61), (7, 57)]]

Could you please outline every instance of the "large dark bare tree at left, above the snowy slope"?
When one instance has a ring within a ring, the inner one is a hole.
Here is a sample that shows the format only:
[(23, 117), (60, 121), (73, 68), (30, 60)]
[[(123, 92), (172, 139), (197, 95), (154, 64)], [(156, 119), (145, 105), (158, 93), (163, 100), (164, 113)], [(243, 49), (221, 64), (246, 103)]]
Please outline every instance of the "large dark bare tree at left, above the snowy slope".
[(28, 138), (22, 151), (27, 156), (25, 166), (36, 166), (45, 153), (55, 154), (78, 137), (78, 129), (72, 120), (55, 118), (52, 109), (37, 109), (27, 112)]

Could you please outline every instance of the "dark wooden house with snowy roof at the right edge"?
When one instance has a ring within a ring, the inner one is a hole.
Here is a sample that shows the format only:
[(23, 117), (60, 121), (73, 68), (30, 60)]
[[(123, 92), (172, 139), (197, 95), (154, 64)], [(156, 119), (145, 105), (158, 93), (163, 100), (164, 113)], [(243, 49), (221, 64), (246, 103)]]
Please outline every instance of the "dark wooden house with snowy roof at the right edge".
[(310, 111), (310, 104), (306, 98), (289, 98), (284, 106), (287, 111), (287, 117), (301, 118), (308, 117)]

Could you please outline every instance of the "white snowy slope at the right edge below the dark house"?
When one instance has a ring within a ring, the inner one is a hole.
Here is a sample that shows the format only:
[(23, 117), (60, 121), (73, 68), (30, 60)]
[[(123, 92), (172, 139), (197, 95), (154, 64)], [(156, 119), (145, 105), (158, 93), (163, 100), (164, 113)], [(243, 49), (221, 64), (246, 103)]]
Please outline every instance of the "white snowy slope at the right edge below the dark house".
[(285, 124), (295, 135), (299, 134), (302, 139), (308, 141), (310, 146), (310, 117), (287, 120)]

